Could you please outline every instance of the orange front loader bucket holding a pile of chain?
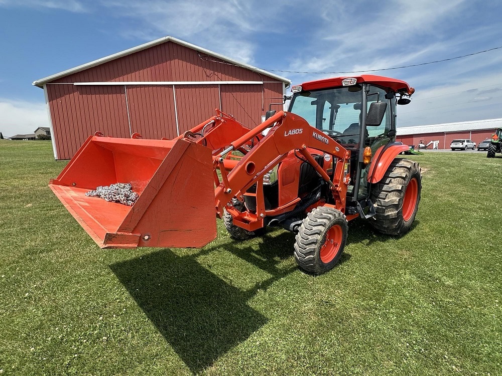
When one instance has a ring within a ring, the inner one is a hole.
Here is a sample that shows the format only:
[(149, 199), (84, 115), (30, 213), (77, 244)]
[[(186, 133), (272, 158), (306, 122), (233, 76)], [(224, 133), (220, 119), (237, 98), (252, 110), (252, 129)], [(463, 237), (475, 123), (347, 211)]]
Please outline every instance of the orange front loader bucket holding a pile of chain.
[[(85, 194), (130, 183), (133, 206)], [(211, 149), (187, 139), (90, 136), (51, 190), (101, 248), (203, 247), (216, 238)]]

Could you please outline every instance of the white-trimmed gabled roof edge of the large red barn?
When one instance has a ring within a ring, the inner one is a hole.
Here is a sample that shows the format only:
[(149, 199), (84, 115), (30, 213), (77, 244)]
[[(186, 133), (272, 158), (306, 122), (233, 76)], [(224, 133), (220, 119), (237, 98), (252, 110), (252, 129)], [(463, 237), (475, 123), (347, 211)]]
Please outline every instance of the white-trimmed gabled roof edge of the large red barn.
[(212, 51), (206, 50), (206, 49), (204, 49), (202, 47), (195, 46), (195, 45), (193, 45), (191, 43), (182, 41), (180, 39), (177, 39), (177, 38), (174, 38), (174, 37), (171, 37), (171, 36), (167, 36), (167, 37), (156, 39), (155, 41), (152, 41), (152, 42), (148, 42), (148, 43), (142, 44), (140, 46), (136, 46), (136, 47), (130, 48), (128, 50), (117, 52), (116, 54), (109, 55), (109, 56), (106, 56), (104, 58), (97, 59), (97, 60), (91, 61), (91, 62), (86, 63), (86, 64), (79, 65), (78, 67), (71, 68), (71, 69), (68, 69), (66, 71), (59, 72), (59, 73), (53, 74), (51, 76), (47, 76), (47, 77), (41, 78), (40, 80), (34, 81), (33, 85), (38, 86), (38, 87), (41, 88), (41, 87), (44, 86), (44, 84), (46, 84), (48, 82), (57, 80), (59, 78), (68, 76), (68, 75), (73, 74), (73, 73), (81, 72), (83, 70), (95, 67), (95, 66), (100, 65), (100, 64), (107, 63), (107, 62), (109, 62), (111, 60), (115, 60), (115, 59), (121, 58), (123, 56), (134, 54), (135, 52), (138, 52), (138, 51), (146, 50), (147, 48), (150, 48), (150, 47), (153, 47), (153, 46), (157, 46), (157, 45), (160, 45), (160, 44), (163, 44), (163, 43), (166, 43), (166, 42), (173, 42), (173, 43), (179, 44), (181, 46), (185, 46), (185, 47), (191, 48), (191, 49), (199, 51), (199, 52), (201, 52), (203, 54), (206, 54), (206, 55), (212, 56), (214, 58), (223, 60), (223, 61), (225, 61), (227, 63), (232, 64), (232, 65), (236, 65), (238, 67), (242, 67), (242, 68), (248, 69), (250, 71), (257, 72), (257, 73), (266, 75), (266, 76), (271, 77), (271, 78), (275, 78), (276, 80), (282, 81), (282, 82), (284, 82), (287, 85), (291, 84), (291, 80), (288, 80), (287, 78), (278, 76), (278, 75), (276, 75), (274, 73), (270, 73), (270, 72), (264, 71), (263, 69), (260, 69), (260, 68), (253, 67), (252, 65), (240, 63), (240, 62), (235, 61), (233, 59), (227, 58), (226, 56), (217, 54), (216, 52), (212, 52)]

